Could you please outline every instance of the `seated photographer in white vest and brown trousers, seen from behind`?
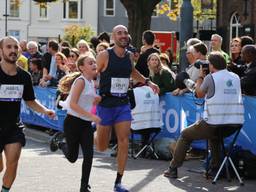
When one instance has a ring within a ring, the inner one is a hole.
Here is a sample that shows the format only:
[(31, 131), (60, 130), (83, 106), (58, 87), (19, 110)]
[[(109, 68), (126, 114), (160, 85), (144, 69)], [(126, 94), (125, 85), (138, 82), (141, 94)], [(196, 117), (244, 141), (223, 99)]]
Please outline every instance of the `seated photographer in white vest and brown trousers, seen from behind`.
[(190, 144), (201, 139), (209, 140), (212, 154), (209, 173), (214, 174), (220, 164), (220, 142), (216, 138), (218, 125), (224, 124), (223, 135), (229, 136), (244, 122), (239, 77), (226, 70), (227, 64), (221, 52), (211, 52), (208, 61), (211, 73), (205, 76), (201, 66), (195, 88), (197, 97), (205, 98), (204, 118), (181, 132), (170, 166), (164, 172), (165, 177), (178, 177), (178, 167), (182, 165)]

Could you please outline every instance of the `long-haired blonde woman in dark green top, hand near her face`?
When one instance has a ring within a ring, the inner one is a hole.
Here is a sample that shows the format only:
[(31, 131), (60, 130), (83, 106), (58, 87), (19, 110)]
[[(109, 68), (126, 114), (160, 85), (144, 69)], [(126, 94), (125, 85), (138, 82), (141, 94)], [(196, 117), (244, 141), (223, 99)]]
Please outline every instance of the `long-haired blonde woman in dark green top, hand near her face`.
[(148, 56), (148, 68), (150, 79), (160, 88), (160, 96), (175, 89), (175, 74), (161, 63), (158, 53), (152, 53)]

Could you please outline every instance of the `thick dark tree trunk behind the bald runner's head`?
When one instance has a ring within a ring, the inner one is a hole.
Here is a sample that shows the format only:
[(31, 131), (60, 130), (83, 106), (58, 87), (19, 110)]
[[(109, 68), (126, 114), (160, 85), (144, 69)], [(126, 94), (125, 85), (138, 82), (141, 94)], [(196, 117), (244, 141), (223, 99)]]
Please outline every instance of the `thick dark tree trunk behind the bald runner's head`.
[(150, 29), (151, 16), (161, 0), (120, 0), (127, 11), (128, 31), (132, 44), (139, 48), (142, 44), (142, 33)]

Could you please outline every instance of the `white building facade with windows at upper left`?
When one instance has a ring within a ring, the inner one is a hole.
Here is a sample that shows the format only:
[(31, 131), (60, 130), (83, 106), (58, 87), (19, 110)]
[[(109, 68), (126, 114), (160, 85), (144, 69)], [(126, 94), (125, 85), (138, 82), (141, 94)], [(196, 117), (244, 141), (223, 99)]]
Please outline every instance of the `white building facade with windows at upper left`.
[[(32, 0), (4, 0), (0, 4), (0, 36), (8, 35), (19, 40), (37, 40), (62, 37), (65, 26), (78, 24), (90, 25), (97, 32), (98, 1), (69, 0), (38, 4)], [(7, 27), (5, 13), (7, 11)]]

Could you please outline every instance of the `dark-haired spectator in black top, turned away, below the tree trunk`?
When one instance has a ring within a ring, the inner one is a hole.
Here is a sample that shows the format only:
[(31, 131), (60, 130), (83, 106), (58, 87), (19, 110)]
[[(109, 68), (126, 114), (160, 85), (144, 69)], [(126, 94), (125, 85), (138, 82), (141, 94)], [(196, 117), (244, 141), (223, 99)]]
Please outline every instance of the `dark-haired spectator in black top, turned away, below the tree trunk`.
[(145, 50), (139, 57), (138, 62), (135, 66), (135, 68), (144, 76), (149, 77), (149, 69), (147, 65), (147, 59), (148, 56), (151, 53), (158, 53), (160, 54), (159, 50), (154, 48), (154, 41), (155, 41), (155, 35), (152, 31), (147, 30), (144, 31), (142, 34), (143, 39), (143, 49)]

